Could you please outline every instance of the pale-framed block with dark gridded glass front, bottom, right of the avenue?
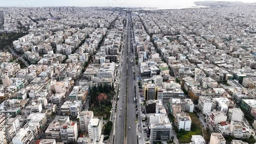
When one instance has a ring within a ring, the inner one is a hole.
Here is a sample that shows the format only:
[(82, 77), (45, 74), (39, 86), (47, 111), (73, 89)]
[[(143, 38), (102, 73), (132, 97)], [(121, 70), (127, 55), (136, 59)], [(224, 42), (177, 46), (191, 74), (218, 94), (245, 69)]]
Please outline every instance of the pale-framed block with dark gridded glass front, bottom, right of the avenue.
[(160, 123), (150, 125), (150, 140), (151, 141), (168, 141), (172, 137), (172, 124)]

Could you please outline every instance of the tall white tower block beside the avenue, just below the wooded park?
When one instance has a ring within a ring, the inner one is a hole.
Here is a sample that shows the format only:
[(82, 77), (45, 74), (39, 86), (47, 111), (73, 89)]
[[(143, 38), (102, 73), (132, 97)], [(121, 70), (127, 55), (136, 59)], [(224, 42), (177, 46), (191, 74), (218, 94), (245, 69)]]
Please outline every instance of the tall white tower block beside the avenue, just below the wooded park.
[(92, 139), (96, 139), (96, 141), (100, 140), (101, 136), (101, 122), (98, 118), (91, 118), (88, 124), (88, 135)]

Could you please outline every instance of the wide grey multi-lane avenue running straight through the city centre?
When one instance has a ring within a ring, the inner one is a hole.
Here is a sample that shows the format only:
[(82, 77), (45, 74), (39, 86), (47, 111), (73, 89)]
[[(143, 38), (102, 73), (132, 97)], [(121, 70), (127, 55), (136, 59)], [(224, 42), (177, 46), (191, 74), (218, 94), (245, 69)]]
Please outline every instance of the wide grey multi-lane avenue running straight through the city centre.
[[(114, 143), (137, 143), (135, 123), (135, 81), (133, 79), (133, 60), (131, 50), (131, 16), (127, 15), (122, 60), (120, 62), (119, 100), (115, 119)], [(126, 127), (125, 127), (126, 125)]]

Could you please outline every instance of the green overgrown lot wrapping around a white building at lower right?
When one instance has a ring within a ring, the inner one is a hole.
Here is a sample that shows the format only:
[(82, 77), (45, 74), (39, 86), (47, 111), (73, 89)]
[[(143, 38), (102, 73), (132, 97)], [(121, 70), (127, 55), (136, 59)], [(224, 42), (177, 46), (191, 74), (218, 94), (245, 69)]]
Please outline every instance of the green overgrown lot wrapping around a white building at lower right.
[(201, 125), (197, 115), (195, 113), (189, 113), (189, 116), (192, 121), (191, 130), (185, 131), (181, 129), (179, 132), (177, 132), (177, 138), (179, 142), (180, 143), (191, 142), (192, 135), (202, 135), (206, 142), (210, 141), (210, 136), (207, 134), (206, 130), (203, 129), (203, 126)]

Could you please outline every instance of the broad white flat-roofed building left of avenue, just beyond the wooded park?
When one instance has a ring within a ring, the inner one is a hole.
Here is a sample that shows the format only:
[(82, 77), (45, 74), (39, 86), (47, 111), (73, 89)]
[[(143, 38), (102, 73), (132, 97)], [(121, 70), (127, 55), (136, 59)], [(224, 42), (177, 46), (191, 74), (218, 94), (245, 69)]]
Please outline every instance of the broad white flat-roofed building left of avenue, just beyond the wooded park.
[(114, 71), (115, 71), (115, 63), (103, 63), (101, 64), (98, 72), (97, 77), (98, 78), (113, 78), (114, 77)]

